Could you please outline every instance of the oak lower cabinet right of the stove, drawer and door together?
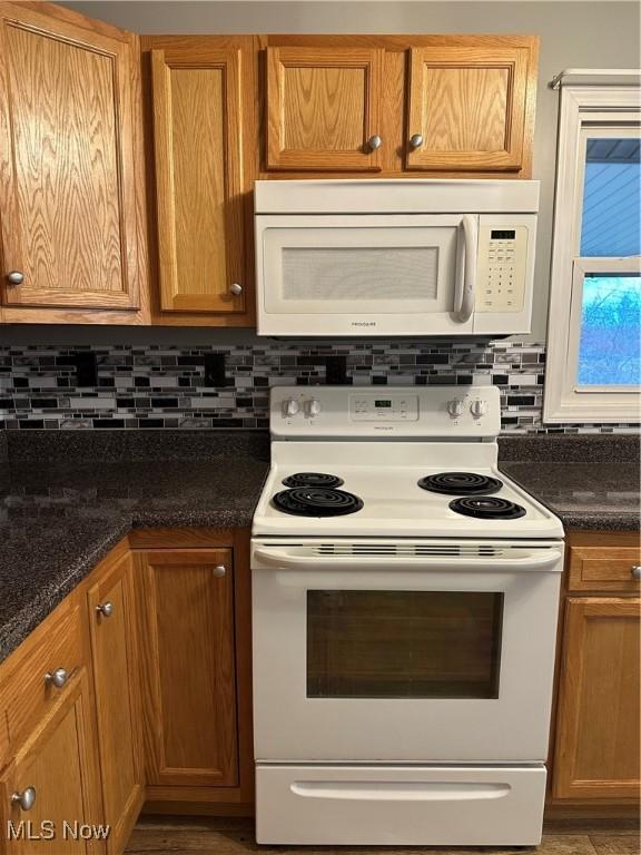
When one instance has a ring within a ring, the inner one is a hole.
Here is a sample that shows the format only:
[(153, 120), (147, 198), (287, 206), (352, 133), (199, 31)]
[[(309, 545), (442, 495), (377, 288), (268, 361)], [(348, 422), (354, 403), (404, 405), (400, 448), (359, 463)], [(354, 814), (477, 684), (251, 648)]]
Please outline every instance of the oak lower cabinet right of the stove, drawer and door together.
[[(638, 533), (570, 533), (552, 799), (637, 803), (640, 779)], [(634, 596), (635, 594), (635, 596)]]

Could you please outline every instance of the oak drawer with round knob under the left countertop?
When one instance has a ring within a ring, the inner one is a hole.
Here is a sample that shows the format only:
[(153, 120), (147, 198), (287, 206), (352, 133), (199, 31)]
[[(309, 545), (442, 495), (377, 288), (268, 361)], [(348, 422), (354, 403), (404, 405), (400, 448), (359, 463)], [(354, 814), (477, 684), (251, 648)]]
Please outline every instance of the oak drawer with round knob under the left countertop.
[[(0, 687), (0, 709), (7, 710), (7, 726), (12, 750), (53, 707), (66, 691), (71, 676), (83, 665), (80, 611), (69, 605), (52, 623), (37, 630), (37, 638), (17, 652), (16, 664)], [(47, 675), (57, 681), (48, 679)]]

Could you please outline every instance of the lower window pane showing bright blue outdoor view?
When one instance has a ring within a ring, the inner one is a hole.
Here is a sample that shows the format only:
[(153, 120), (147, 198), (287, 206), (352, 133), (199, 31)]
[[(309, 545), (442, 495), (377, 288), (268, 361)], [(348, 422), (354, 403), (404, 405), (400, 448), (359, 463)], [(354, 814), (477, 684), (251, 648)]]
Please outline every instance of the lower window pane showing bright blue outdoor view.
[(580, 386), (640, 383), (641, 276), (586, 275), (580, 335)]

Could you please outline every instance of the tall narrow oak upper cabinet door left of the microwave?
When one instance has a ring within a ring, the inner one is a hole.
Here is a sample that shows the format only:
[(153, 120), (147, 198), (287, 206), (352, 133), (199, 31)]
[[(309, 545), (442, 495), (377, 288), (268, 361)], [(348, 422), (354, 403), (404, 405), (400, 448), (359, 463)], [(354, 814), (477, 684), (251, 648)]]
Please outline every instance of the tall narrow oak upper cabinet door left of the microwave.
[(183, 42), (151, 50), (160, 308), (244, 313), (250, 55)]

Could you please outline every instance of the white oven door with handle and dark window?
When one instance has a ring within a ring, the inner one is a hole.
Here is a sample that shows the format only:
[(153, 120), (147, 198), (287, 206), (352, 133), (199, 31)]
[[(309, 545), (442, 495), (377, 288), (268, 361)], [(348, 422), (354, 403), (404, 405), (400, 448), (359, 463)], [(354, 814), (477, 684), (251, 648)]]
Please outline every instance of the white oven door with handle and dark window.
[(562, 554), (254, 541), (256, 759), (543, 760)]

